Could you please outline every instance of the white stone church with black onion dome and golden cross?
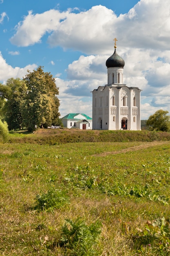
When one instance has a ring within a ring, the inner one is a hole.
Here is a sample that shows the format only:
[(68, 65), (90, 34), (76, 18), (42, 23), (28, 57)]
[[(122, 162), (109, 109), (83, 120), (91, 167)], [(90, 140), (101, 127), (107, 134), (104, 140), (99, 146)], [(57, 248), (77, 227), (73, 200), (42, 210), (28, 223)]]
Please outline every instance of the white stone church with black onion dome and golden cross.
[(116, 52), (106, 61), (108, 84), (93, 90), (92, 129), (141, 130), (141, 90), (123, 83), (125, 62)]

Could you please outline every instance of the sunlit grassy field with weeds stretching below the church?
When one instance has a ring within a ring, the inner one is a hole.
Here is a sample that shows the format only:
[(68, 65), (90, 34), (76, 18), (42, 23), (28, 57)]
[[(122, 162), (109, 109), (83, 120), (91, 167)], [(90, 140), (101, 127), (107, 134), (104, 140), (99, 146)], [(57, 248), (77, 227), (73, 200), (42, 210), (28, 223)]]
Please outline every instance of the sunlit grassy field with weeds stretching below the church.
[(0, 144), (0, 255), (170, 255), (169, 135), (121, 132), (44, 129)]

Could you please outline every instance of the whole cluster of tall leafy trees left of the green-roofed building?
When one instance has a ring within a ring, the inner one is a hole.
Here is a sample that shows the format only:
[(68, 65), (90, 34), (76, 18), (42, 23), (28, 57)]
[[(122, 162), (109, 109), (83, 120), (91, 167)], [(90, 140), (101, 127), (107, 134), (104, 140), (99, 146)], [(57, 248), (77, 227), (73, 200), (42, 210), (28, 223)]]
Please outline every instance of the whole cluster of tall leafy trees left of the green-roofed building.
[(27, 128), (33, 132), (36, 127), (60, 125), (55, 78), (42, 66), (27, 72), (23, 79), (0, 83), (0, 119), (7, 122), (9, 130)]

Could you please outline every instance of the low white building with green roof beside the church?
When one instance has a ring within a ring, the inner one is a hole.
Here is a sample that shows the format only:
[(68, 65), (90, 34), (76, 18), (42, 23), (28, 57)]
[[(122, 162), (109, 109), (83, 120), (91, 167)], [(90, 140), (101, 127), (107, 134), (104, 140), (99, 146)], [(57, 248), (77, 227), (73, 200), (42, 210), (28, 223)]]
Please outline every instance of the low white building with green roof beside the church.
[(81, 130), (91, 130), (92, 129), (92, 118), (85, 114), (80, 113), (70, 113), (62, 117), (62, 124), (66, 128), (77, 128)]

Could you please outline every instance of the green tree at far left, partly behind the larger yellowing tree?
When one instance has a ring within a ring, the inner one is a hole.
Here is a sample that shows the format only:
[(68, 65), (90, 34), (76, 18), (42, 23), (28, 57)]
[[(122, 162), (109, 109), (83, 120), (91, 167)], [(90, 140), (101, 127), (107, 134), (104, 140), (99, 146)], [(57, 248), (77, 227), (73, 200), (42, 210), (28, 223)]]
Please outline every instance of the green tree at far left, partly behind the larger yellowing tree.
[(7, 121), (9, 130), (22, 128), (22, 105), (25, 95), (25, 82), (19, 78), (8, 79), (6, 85), (0, 84), (0, 97), (5, 99), (1, 116)]

